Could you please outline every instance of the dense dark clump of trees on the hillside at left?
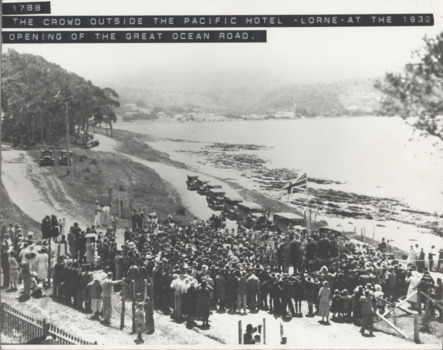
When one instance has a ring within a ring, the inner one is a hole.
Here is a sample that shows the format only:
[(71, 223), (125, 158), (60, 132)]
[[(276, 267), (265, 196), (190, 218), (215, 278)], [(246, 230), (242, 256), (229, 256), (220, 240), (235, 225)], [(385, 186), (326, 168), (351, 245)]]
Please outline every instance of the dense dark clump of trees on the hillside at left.
[(66, 115), (73, 135), (87, 141), (91, 123), (116, 120), (118, 95), (46, 61), (8, 50), (2, 58), (2, 132), (6, 141), (53, 143), (66, 135)]

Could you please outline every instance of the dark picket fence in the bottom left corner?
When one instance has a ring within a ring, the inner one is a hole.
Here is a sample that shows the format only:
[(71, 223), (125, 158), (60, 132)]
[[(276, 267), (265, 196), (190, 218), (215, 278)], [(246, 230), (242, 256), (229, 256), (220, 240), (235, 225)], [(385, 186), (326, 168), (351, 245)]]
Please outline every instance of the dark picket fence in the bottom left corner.
[(31, 316), (14, 309), (6, 303), (1, 303), (1, 329), (7, 334), (20, 334), (22, 343), (43, 336), (50, 336), (49, 344), (60, 345), (96, 345), (73, 336), (57, 326), (47, 323), (46, 320), (36, 320)]

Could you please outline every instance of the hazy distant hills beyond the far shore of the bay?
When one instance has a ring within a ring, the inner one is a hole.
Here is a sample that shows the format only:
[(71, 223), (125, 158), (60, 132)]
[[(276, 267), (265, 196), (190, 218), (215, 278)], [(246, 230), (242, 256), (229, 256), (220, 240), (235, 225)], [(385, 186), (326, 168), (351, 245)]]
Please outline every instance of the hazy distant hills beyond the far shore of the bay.
[[(374, 114), (379, 94), (372, 80), (328, 84), (297, 84), (258, 72), (224, 72), (200, 77), (156, 79), (141, 87), (115, 86), (123, 115), (152, 118), (154, 108), (165, 115), (212, 113), (227, 117), (276, 114), (313, 117)], [(131, 107), (132, 106), (132, 107)], [(136, 106), (134, 110), (133, 106)], [(145, 109), (146, 113), (140, 113)], [(159, 117), (155, 114), (154, 117)]]

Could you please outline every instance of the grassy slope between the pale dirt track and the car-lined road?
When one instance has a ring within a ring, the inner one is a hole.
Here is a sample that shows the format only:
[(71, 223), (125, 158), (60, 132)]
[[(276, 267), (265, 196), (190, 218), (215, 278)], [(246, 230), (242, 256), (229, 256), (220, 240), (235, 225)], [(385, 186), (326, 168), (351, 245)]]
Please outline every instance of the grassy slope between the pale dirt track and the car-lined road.
[[(134, 148), (131, 142), (129, 138), (129, 145), (125, 142), (122, 148), (128, 153), (136, 154), (129, 152)], [(58, 155), (63, 148), (63, 143), (55, 145), (54, 153)], [(71, 150), (74, 154), (74, 176), (66, 176), (66, 167), (57, 165), (54, 167), (54, 174), (64, 184), (67, 194), (79, 204), (75, 214), (92, 220), (92, 208), (98, 193), (107, 196), (109, 189), (112, 189), (113, 204), (115, 198), (132, 198), (136, 208), (143, 208), (145, 213), (156, 211), (160, 218), (169, 214), (179, 218), (184, 218), (184, 215), (190, 217), (181, 205), (178, 194), (152, 169), (109, 152), (95, 152), (80, 147), (71, 147)], [(139, 152), (151, 160), (157, 159), (159, 153), (150, 152), (149, 148), (143, 148)], [(31, 150), (29, 154), (38, 162), (39, 149)], [(53, 193), (53, 196), (57, 198), (57, 193)], [(129, 220), (121, 219), (119, 226), (128, 224)]]

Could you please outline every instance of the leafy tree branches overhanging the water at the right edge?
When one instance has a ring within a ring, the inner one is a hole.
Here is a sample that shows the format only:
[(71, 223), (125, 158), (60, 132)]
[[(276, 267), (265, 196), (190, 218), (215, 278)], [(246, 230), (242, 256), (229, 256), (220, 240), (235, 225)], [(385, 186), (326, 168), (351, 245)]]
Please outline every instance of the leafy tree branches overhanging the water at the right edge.
[(427, 135), (443, 139), (443, 32), (424, 38), (414, 62), (387, 73), (375, 87), (384, 94), (381, 112), (401, 116)]

